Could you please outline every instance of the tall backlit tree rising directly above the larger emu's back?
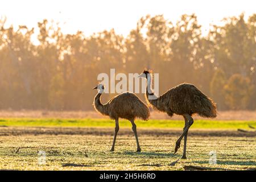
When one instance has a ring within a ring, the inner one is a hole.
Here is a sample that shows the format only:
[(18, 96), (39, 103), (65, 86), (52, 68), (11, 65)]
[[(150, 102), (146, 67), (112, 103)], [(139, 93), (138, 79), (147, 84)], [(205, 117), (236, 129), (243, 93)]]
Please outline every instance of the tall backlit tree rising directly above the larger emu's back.
[[(195, 64), (201, 39), (200, 25), (195, 14), (182, 15), (174, 27), (171, 41), (171, 62), (175, 73), (175, 85), (180, 82), (195, 81)], [(177, 77), (182, 75), (182, 77)]]

